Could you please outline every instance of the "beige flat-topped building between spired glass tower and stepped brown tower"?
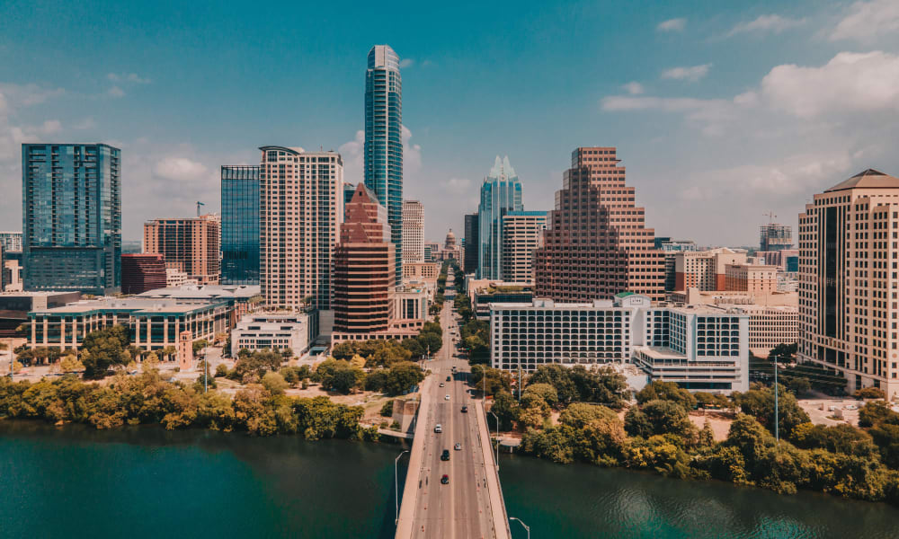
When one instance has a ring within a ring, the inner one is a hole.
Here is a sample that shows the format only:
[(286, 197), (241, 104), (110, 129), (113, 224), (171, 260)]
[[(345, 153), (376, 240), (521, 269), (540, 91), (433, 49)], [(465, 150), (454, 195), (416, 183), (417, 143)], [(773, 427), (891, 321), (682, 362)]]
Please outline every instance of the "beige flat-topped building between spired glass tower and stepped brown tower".
[(534, 252), (543, 245), (546, 229), (545, 211), (512, 211), (503, 216), (503, 280), (533, 282)]

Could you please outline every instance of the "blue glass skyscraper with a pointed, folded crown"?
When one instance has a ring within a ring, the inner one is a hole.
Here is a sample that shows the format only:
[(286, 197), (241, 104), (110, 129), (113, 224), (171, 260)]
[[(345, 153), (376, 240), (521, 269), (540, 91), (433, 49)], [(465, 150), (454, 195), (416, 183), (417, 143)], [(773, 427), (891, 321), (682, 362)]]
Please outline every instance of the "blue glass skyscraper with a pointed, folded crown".
[(509, 157), (501, 161), (497, 155), (481, 185), (481, 203), (477, 206), (477, 278), (503, 278), (503, 215), (522, 210), (521, 181)]

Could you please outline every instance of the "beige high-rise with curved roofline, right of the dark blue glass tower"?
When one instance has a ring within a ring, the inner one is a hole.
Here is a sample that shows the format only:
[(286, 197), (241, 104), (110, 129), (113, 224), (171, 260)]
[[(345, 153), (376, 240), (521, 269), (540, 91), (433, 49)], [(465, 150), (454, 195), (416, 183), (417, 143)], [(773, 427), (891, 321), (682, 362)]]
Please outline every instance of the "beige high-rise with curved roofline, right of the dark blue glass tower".
[(302, 148), (260, 150), (259, 284), (265, 303), (329, 310), (343, 221), (343, 159)]

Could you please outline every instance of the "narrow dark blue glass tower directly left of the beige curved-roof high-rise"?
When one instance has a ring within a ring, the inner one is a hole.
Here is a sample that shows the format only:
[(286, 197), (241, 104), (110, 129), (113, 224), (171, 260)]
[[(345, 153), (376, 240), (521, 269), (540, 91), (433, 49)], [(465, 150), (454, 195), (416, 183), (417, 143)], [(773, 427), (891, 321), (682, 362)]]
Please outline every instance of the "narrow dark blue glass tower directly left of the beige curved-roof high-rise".
[(222, 165), (223, 285), (259, 284), (259, 165)]

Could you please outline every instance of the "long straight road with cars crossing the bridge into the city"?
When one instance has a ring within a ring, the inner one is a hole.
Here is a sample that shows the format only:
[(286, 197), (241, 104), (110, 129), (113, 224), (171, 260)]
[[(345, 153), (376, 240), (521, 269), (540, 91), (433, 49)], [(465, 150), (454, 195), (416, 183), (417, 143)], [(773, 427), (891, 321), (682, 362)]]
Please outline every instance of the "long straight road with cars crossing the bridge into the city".
[[(448, 280), (447, 286), (452, 281)], [(423, 459), (418, 471), (421, 489), (415, 501), (414, 537), (456, 538), (496, 537), (487, 490), (487, 474), (494, 473), (492, 462), (485, 465), (485, 451), (476, 421), (476, 407), (467, 393), (470, 376), (467, 360), (456, 358), (453, 335), (458, 324), (453, 317), (451, 302), (441, 312), (443, 347), (427, 366), (432, 376), (423, 391), (432, 393), (428, 410), (420, 411), (416, 436), (424, 436)], [(452, 367), (457, 373), (452, 373)], [(450, 380), (447, 381), (449, 376)], [(443, 384), (443, 387), (440, 387)], [(446, 399), (449, 395), (449, 400)], [(468, 412), (461, 411), (467, 405)], [(440, 423), (442, 433), (435, 433)], [(455, 450), (456, 443), (462, 445)], [(449, 462), (441, 461), (441, 453), (449, 450)], [(490, 455), (489, 451), (486, 455)], [(414, 473), (412, 470), (409, 473)], [(441, 476), (449, 475), (449, 484), (441, 484)], [(408, 483), (407, 483), (408, 485)], [(407, 487), (408, 488), (408, 487)], [(407, 500), (404, 499), (404, 503)], [(503, 508), (499, 508), (503, 511)], [(504, 536), (501, 531), (501, 537)]]

